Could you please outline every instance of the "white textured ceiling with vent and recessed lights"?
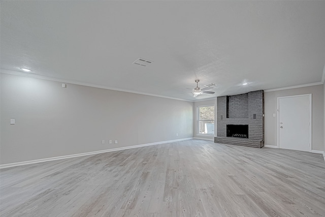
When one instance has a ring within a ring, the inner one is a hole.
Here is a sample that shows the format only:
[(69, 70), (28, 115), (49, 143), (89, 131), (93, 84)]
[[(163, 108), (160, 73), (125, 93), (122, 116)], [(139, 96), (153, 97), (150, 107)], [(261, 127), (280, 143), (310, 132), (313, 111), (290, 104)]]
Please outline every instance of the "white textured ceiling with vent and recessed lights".
[[(320, 82), (324, 64), (325, 1), (1, 2), (3, 70), (201, 100)], [(184, 94), (195, 79), (215, 94)]]

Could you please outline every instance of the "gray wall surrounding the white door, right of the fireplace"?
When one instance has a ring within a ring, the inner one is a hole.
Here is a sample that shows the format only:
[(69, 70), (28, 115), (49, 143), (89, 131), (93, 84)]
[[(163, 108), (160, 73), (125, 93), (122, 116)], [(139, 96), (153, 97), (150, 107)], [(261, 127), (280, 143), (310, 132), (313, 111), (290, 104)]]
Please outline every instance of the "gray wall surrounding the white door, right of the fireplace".
[(324, 150), (323, 85), (265, 92), (265, 144), (277, 145), (277, 97), (312, 94), (312, 150)]

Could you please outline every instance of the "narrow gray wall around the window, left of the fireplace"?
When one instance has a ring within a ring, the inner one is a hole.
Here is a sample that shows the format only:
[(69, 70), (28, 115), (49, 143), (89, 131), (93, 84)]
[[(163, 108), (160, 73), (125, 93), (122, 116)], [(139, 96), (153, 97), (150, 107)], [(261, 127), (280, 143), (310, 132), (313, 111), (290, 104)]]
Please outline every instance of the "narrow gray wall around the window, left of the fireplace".
[[(198, 134), (198, 117), (197, 117), (197, 108), (198, 106), (211, 106), (214, 105), (214, 116), (216, 117), (216, 112), (217, 112), (217, 98), (213, 100), (205, 100), (205, 101), (199, 101), (199, 102), (194, 102), (194, 108), (193, 108), (193, 137), (197, 138), (202, 138), (202, 139), (209, 139), (213, 141), (214, 136), (213, 135), (201, 135)], [(214, 134), (216, 135), (216, 123), (214, 123)]]

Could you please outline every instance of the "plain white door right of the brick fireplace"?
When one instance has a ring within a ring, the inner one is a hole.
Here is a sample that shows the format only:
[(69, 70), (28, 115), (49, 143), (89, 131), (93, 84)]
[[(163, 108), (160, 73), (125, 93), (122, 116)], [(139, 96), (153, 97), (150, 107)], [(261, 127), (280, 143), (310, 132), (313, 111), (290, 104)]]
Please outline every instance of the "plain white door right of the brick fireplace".
[(279, 148), (310, 151), (311, 95), (278, 98)]

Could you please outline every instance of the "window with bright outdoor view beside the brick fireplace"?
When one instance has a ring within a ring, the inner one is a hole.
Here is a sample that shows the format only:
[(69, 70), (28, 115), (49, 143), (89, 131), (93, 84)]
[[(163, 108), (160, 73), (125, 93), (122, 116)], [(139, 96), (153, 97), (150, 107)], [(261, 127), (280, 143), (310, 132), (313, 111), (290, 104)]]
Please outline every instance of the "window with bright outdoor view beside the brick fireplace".
[(198, 107), (198, 133), (214, 135), (214, 106)]

